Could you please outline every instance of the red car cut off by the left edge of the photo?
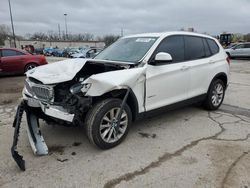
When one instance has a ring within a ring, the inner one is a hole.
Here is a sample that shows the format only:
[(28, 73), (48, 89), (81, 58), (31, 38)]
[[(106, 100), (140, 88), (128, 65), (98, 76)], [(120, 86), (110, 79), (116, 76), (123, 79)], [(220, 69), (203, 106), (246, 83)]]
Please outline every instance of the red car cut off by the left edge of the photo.
[(0, 48), (0, 75), (23, 74), (47, 64), (43, 55), (32, 55), (16, 48)]

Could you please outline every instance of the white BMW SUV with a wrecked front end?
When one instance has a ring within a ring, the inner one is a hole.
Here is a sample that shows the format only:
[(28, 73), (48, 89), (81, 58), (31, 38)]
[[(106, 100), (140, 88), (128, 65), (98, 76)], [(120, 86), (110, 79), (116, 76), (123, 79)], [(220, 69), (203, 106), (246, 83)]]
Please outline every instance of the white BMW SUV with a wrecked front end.
[(23, 103), (36, 154), (47, 146), (38, 119), (86, 128), (102, 149), (121, 143), (132, 121), (159, 108), (202, 102), (216, 110), (229, 59), (218, 41), (191, 32), (126, 36), (94, 59), (69, 59), (27, 72)]

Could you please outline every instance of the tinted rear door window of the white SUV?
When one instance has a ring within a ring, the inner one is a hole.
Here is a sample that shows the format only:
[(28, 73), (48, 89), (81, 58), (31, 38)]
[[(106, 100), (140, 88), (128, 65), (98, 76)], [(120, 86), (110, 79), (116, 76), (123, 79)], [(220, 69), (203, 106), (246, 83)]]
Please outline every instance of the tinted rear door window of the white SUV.
[(206, 57), (201, 37), (185, 36), (185, 59), (195, 60)]

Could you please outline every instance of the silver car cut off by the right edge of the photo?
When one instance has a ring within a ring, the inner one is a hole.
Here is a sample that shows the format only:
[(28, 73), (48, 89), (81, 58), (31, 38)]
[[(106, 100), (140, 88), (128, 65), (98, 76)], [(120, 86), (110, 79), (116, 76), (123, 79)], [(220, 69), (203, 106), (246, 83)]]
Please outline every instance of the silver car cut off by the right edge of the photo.
[(225, 49), (225, 51), (231, 58), (250, 57), (250, 42), (238, 43), (229, 49)]

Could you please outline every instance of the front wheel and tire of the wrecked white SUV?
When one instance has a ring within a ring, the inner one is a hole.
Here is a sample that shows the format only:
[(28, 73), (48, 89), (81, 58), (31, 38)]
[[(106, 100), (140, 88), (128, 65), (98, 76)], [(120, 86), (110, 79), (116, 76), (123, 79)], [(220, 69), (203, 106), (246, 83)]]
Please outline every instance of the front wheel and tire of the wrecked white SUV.
[[(85, 118), (86, 133), (89, 141), (101, 149), (110, 149), (120, 144), (128, 134), (132, 122), (132, 113), (125, 104), (120, 129), (116, 133), (115, 116), (118, 114), (122, 100), (116, 98), (105, 99), (98, 102), (87, 113)], [(112, 115), (113, 112), (113, 115)]]

